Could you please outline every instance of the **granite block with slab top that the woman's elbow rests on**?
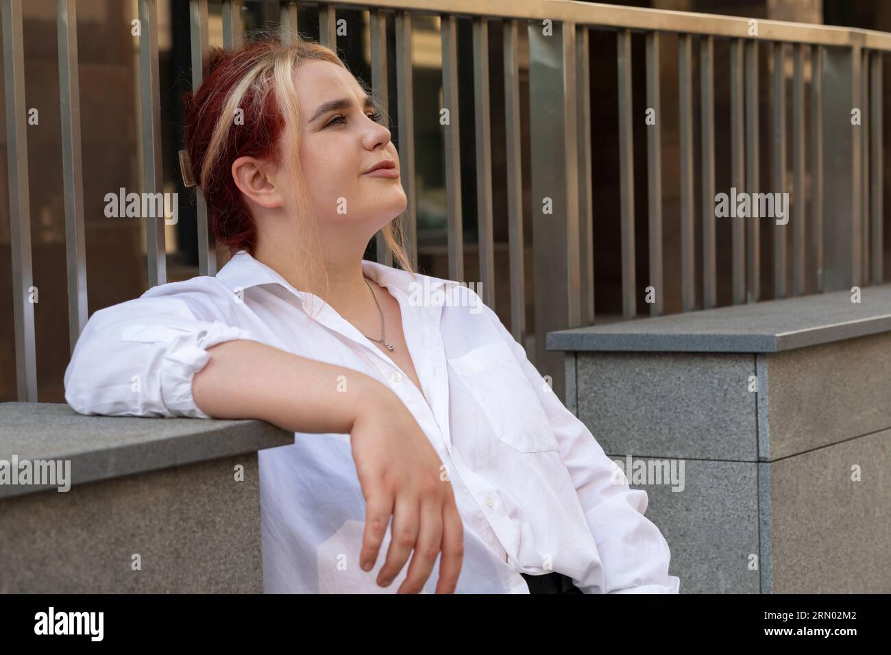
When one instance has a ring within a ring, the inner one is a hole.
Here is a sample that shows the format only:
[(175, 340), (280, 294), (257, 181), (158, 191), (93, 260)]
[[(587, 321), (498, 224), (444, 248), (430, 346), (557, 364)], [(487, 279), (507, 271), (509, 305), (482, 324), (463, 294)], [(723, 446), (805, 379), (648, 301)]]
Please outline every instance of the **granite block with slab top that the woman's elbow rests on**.
[(293, 442), (260, 421), (0, 404), (0, 467), (60, 474), (0, 483), (0, 592), (262, 593), (257, 450)]

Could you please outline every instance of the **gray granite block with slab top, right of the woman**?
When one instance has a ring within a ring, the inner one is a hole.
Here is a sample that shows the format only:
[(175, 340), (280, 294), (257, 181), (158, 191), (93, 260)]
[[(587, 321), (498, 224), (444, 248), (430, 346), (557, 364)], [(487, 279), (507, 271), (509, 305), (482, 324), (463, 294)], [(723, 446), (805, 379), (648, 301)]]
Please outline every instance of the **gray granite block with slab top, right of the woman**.
[(568, 407), (647, 491), (682, 593), (891, 593), (891, 285), (547, 346)]

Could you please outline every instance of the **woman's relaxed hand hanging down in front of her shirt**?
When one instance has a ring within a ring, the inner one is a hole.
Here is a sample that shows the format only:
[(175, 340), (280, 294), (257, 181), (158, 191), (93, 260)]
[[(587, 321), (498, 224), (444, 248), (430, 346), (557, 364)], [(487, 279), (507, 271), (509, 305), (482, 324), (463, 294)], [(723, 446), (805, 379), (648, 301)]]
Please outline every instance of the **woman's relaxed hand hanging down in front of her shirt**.
[(393, 526), (387, 559), (377, 583), (387, 586), (414, 550), (400, 594), (417, 594), (437, 556), (437, 594), (452, 594), (464, 554), (461, 516), (443, 465), (411, 412), (389, 389), (364, 403), (350, 441), (365, 498), (365, 531), (359, 565), (371, 570), (378, 559), (390, 515)]

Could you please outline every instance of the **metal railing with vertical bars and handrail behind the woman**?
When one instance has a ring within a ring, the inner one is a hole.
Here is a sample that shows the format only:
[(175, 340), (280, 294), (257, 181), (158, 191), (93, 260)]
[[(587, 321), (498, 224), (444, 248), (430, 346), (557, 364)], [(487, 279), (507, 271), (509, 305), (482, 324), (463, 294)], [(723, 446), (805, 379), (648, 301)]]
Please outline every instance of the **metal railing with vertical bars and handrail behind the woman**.
[[(296, 34), (297, 3), (281, 2), (285, 38)], [(201, 81), (208, 56), (207, 0), (190, 0), (192, 86)], [(492, 209), (492, 138), (489, 126), (488, 29), (503, 29), (504, 115), (507, 143), (507, 222), (510, 252), (511, 330), (521, 343), (526, 335), (523, 256), (523, 201), (521, 163), (531, 162), (532, 253), (535, 270), (535, 362), (542, 370), (562, 372), (562, 354), (545, 349), (544, 335), (552, 330), (594, 323), (592, 125), (589, 36), (591, 30), (611, 30), (617, 41), (619, 197), (621, 225), (621, 287), (623, 316), (634, 318), (642, 293), (635, 280), (634, 249), (634, 129), (632, 112), (633, 33), (645, 35), (646, 102), (661, 117), (659, 39), (676, 35), (679, 70), (679, 134), (681, 180), (681, 283), (683, 311), (696, 308), (695, 176), (701, 176), (702, 307), (715, 306), (718, 253), (715, 249), (715, 39), (730, 43), (732, 184), (759, 191), (758, 58), (773, 58), (772, 68), (772, 188), (786, 187), (785, 71), (783, 58), (790, 47), (792, 75), (792, 215), (791, 244), (785, 225), (774, 232), (774, 295), (799, 295), (806, 289), (832, 291), (856, 284), (882, 282), (882, 129), (881, 54), (891, 49), (891, 35), (862, 29), (840, 29), (774, 20), (749, 20), (710, 14), (638, 9), (568, 0), (378, 0), (373, 3), (310, 4), (319, 12), (320, 40), (336, 45), (339, 8), (370, 12), (372, 86), (388, 114), (388, 60), (395, 58), (396, 130), (407, 213), (415, 216), (415, 153), (413, 141), (412, 20), (420, 14), (440, 18), (442, 86), (446, 107), (457, 108), (456, 20), (472, 20), (475, 94), (476, 180), (460, 175), (458, 111), (450, 111), (443, 126), (448, 242), (448, 276), (464, 278), (461, 196), (474, 184), (478, 198), (479, 275), (482, 297), (495, 308), (495, 242)], [(139, 0), (142, 36), (139, 41), (142, 98), (143, 177), (145, 192), (161, 192), (159, 73), (156, 0)], [(307, 4), (301, 3), (301, 9)], [(240, 0), (223, 0), (224, 45), (242, 38)], [(395, 14), (396, 48), (388, 51), (386, 16)], [(71, 348), (86, 323), (86, 254), (84, 248), (83, 182), (80, 163), (78, 47), (75, 0), (57, 0), (59, 70), (62, 117), (62, 170), (65, 184), (65, 225), (68, 257), (69, 333)], [(32, 283), (29, 239), (28, 143), (22, 75), (20, 0), (3, 0), (4, 86), (9, 159), (10, 217), (15, 348), (20, 400), (37, 400)], [(521, 30), (527, 32), (529, 61), (528, 107), (521, 106), (519, 61)], [(694, 47), (698, 43), (698, 50)], [(805, 55), (810, 54), (810, 135), (805, 134)], [(701, 115), (694, 116), (694, 58), (699, 57)], [(721, 71), (724, 73), (725, 71)], [(868, 104), (867, 104), (868, 103)], [(853, 110), (862, 123), (851, 125)], [(522, 151), (521, 112), (528, 112), (531, 149)], [(694, 125), (701, 143), (699, 171), (694, 171)], [(847, 128), (850, 127), (850, 128)], [(810, 145), (811, 211), (805, 191), (805, 142)], [(878, 146), (870, 144), (879, 144)], [(655, 301), (650, 315), (663, 313), (664, 272), (662, 242), (661, 121), (647, 129), (648, 258)], [(207, 208), (198, 194), (200, 274), (215, 274), (215, 244), (208, 234)], [(543, 206), (549, 205), (544, 216)], [(827, 218), (824, 225), (824, 217)], [(161, 220), (146, 220), (149, 280), (166, 282), (164, 229)], [(760, 298), (758, 221), (732, 223), (732, 302)], [(416, 262), (417, 234), (409, 225), (411, 253)], [(392, 258), (382, 239), (379, 258)], [(792, 285), (786, 288), (787, 257), (791, 250)], [(809, 250), (809, 253), (807, 252)], [(805, 253), (814, 263), (805, 269)], [(497, 299), (502, 302), (502, 299)], [(562, 393), (555, 376), (554, 390)]]

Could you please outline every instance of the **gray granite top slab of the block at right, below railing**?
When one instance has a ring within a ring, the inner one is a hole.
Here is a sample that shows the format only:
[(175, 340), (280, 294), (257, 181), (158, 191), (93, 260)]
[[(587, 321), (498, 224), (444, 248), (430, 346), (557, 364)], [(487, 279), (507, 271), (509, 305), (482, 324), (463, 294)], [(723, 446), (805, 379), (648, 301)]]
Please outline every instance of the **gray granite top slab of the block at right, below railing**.
[(548, 332), (548, 350), (774, 353), (891, 331), (891, 284)]

